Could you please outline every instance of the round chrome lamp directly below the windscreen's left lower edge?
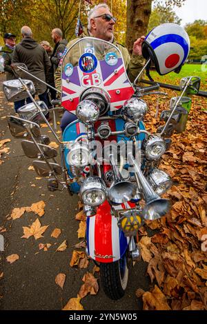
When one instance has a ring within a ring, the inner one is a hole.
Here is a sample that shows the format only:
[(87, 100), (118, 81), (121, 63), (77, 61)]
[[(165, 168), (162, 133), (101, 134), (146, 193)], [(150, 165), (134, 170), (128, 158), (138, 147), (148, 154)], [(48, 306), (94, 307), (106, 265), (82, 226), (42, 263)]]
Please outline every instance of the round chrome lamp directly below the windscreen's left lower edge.
[(77, 105), (76, 115), (83, 123), (92, 124), (99, 119), (99, 108), (92, 101), (83, 100)]

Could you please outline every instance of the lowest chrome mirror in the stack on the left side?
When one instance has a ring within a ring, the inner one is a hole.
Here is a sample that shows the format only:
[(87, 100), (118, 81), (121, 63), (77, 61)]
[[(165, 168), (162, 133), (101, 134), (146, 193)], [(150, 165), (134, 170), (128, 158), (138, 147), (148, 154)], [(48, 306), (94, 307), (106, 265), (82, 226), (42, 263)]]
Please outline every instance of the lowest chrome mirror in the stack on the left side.
[(50, 176), (50, 174), (52, 174), (53, 172), (55, 172), (55, 174), (62, 173), (62, 168), (57, 163), (33, 161), (32, 165), (39, 176)]

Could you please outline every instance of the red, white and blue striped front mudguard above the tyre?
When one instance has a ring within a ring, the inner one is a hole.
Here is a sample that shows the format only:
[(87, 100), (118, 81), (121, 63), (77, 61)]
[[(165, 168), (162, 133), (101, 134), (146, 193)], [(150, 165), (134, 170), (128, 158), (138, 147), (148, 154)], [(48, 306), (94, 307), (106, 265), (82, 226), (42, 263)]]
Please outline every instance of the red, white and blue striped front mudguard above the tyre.
[[(126, 209), (127, 203), (117, 206)], [(86, 221), (86, 239), (90, 258), (101, 263), (112, 263), (124, 256), (129, 239), (119, 230), (117, 218), (110, 212), (110, 204), (105, 201), (97, 208), (97, 214)]]

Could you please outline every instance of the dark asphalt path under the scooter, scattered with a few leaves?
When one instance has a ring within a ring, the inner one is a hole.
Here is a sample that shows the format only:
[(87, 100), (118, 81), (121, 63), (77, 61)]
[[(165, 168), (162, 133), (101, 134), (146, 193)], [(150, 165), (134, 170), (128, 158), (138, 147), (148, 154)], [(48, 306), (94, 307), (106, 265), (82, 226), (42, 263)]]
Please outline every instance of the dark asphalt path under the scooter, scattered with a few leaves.
[[(4, 79), (5, 76), (0, 74), (0, 141), (11, 141), (6, 144), (9, 152), (3, 154), (3, 163), (0, 165), (0, 227), (6, 228), (6, 232), (1, 233), (5, 244), (4, 252), (0, 252), (0, 274), (3, 272), (3, 278), (0, 279), (0, 309), (61, 310), (70, 298), (77, 297), (83, 284), (83, 275), (92, 272), (94, 267), (92, 261), (88, 269), (70, 267), (74, 245), (81, 241), (77, 238), (79, 222), (75, 220), (79, 199), (78, 196), (70, 196), (67, 191), (48, 192), (47, 180), (35, 179), (37, 174), (28, 170), (32, 160), (23, 155), (21, 139), (11, 136), (5, 118), (14, 114), (14, 109), (2, 92)], [(43, 134), (48, 134), (51, 141), (55, 141), (48, 131), (48, 128), (42, 128)], [(43, 217), (34, 212), (25, 212), (19, 219), (8, 220), (14, 207), (30, 206), (41, 200), (46, 203)], [(30, 226), (37, 218), (41, 225), (49, 225), (43, 238), (37, 241), (33, 236), (30, 239), (21, 239), (23, 226)], [(58, 239), (50, 236), (55, 228), (61, 229)], [(55, 252), (64, 240), (67, 241), (67, 249)], [(52, 246), (45, 252), (39, 250), (39, 243), (50, 243)], [(6, 261), (6, 257), (11, 254), (19, 255), (19, 260), (12, 264)], [(143, 261), (130, 267), (126, 294), (119, 301), (111, 301), (104, 294), (99, 280), (98, 294), (88, 295), (81, 300), (84, 310), (141, 310), (142, 304), (135, 292), (138, 288), (150, 289), (146, 267), (147, 264)], [(66, 274), (63, 290), (55, 283), (55, 277), (59, 273)], [(99, 277), (98, 274), (96, 276)]]

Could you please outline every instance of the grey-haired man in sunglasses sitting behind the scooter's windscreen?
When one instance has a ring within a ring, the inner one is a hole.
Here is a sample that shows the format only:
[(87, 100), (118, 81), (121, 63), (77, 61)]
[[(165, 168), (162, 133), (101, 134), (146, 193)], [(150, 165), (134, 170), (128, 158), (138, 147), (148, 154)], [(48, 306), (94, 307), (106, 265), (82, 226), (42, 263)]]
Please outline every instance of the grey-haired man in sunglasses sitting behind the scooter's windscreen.
[[(103, 41), (109, 41), (119, 48), (124, 59), (126, 72), (131, 82), (135, 80), (139, 71), (143, 67), (144, 59), (141, 57), (141, 44), (144, 41), (144, 36), (140, 37), (135, 41), (133, 46), (132, 57), (128, 53), (127, 48), (123, 45), (117, 43), (114, 37), (114, 27), (116, 19), (112, 17), (110, 9), (106, 3), (100, 3), (90, 10), (88, 14), (88, 29), (84, 29), (79, 37), (96, 37), (98, 39), (103, 39)], [(73, 39), (67, 45), (67, 48), (75, 43), (77, 39)], [(76, 56), (76, 53), (74, 53)], [(59, 67), (55, 72), (55, 85), (58, 90), (61, 90), (61, 68)], [(63, 114), (61, 120), (61, 130), (66, 128), (66, 126), (77, 119), (74, 114), (71, 114), (66, 110)]]

